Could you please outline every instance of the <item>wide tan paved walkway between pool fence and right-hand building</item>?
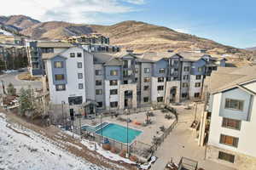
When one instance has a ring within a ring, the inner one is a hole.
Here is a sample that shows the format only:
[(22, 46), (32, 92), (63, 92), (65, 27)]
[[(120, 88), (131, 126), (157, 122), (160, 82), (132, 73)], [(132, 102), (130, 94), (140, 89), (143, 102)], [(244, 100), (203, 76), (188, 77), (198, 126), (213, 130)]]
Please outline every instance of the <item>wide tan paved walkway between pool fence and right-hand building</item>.
[[(177, 109), (180, 110), (180, 109)], [(201, 107), (198, 107), (200, 113)], [(206, 170), (232, 170), (233, 168), (225, 167), (213, 161), (205, 160), (205, 147), (199, 147), (189, 126), (195, 117), (195, 110), (180, 110), (179, 121), (172, 133), (168, 135), (165, 142), (160, 145), (155, 156), (159, 159), (152, 166), (153, 170), (163, 170), (166, 163), (171, 159), (178, 163), (182, 156), (198, 161), (198, 167), (203, 167)], [(198, 114), (199, 115), (199, 114)], [(197, 116), (199, 118), (199, 116)]]

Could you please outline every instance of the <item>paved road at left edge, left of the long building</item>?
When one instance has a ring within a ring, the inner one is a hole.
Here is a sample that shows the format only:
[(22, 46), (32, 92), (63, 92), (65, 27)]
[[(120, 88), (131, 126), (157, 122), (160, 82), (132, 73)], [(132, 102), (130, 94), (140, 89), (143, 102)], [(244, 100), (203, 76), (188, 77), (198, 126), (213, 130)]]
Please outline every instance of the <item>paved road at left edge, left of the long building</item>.
[[(7, 88), (9, 82), (11, 82), (18, 92), (20, 91), (20, 88), (28, 88), (29, 86), (31, 86), (32, 88), (42, 88), (42, 82), (19, 80), (17, 77), (19, 74), (20, 72), (3, 74), (0, 76), (0, 81), (3, 80), (5, 88)], [(3, 94), (2, 82), (0, 82), (0, 94)]]

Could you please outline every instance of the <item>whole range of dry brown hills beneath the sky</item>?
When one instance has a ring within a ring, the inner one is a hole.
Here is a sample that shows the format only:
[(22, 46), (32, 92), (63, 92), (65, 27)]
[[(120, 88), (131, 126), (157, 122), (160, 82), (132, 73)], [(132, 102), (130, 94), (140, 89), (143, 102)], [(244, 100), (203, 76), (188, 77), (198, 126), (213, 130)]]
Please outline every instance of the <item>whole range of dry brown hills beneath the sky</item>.
[(23, 35), (38, 40), (61, 39), (67, 36), (79, 36), (91, 32), (101, 33), (110, 37), (112, 44), (136, 52), (176, 51), (205, 48), (212, 54), (237, 54), (249, 56), (252, 52), (245, 49), (225, 46), (212, 40), (195, 37), (174, 31), (164, 26), (154, 26), (148, 23), (129, 20), (113, 26), (73, 24), (62, 21), (40, 22), (24, 15), (9, 17), (0, 16), (0, 22), (5, 26), (13, 26)]

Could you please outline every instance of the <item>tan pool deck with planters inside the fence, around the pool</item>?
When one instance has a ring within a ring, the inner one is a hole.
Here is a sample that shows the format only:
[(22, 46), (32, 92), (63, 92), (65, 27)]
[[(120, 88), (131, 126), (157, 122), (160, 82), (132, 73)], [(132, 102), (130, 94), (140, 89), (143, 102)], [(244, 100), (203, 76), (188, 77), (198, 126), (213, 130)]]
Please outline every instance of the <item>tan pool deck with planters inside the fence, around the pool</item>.
[[(143, 127), (142, 125), (137, 125), (134, 123), (134, 121), (136, 122), (145, 122), (146, 120), (146, 112), (140, 112), (137, 114), (131, 114), (128, 115), (128, 118), (131, 119), (132, 122), (129, 122), (129, 127), (133, 128), (133, 129), (137, 129), (142, 131), (142, 133), (137, 136), (137, 138), (135, 140), (143, 142), (144, 144), (152, 144), (152, 139), (154, 136), (158, 136), (161, 134), (160, 132), (160, 127), (161, 126), (165, 126), (170, 127), (172, 125), (172, 123), (175, 121), (175, 119), (170, 119), (167, 120), (165, 118), (166, 113), (162, 113), (160, 110), (158, 111), (154, 111), (154, 116), (150, 116), (149, 119), (152, 121), (152, 124), (148, 125), (147, 127)], [(127, 118), (127, 116), (122, 115), (121, 117), (123, 118)], [(99, 124), (101, 122), (100, 117), (97, 117), (96, 119), (93, 119), (93, 121), (95, 121), (97, 124)], [(90, 125), (92, 122), (92, 120), (86, 120), (84, 118), (81, 119), (81, 124), (83, 125)], [(124, 127), (127, 126), (126, 122), (120, 122), (116, 117), (103, 117), (102, 118), (102, 122), (113, 122), (119, 125), (122, 125)], [(77, 119), (75, 122), (75, 125), (79, 125), (79, 119)], [(157, 134), (157, 132), (159, 132), (159, 134)]]

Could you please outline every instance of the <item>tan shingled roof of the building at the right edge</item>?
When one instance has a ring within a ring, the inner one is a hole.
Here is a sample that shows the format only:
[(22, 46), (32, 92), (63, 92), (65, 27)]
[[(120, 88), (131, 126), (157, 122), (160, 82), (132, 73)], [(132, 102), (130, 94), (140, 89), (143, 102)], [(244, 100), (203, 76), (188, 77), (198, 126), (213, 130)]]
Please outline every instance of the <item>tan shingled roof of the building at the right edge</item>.
[[(216, 94), (230, 88), (239, 88), (242, 84), (256, 80), (256, 66), (241, 68), (218, 67), (207, 77), (206, 84), (210, 93)], [(244, 87), (240, 87), (243, 88)]]

